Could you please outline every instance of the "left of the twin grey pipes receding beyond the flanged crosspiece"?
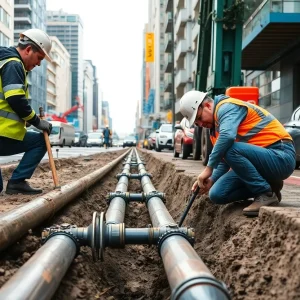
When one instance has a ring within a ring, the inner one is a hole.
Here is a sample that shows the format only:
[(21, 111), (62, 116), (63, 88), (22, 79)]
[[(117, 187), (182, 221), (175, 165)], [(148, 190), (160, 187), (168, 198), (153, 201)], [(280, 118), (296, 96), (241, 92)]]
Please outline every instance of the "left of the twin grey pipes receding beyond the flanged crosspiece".
[[(128, 155), (122, 174), (130, 174), (130, 163), (132, 161), (133, 150)], [(128, 190), (128, 177), (121, 176), (116, 186), (116, 192), (127, 192)], [(107, 224), (119, 224), (124, 222), (126, 211), (126, 201), (121, 197), (115, 197), (111, 200), (109, 207), (106, 211), (105, 218)]]

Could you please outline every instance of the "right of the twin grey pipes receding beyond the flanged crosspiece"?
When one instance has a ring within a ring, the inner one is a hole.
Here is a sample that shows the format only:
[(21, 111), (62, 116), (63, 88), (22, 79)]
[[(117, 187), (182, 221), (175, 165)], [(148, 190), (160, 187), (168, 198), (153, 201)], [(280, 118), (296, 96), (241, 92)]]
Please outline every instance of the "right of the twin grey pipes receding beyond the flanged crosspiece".
[[(137, 158), (138, 169), (140, 174), (141, 175), (147, 174), (147, 171), (144, 165), (142, 164), (142, 161), (136, 150), (135, 153), (136, 153), (135, 155)], [(141, 184), (142, 184), (143, 191), (145, 193), (156, 191), (149, 176), (143, 176), (141, 179)], [(175, 223), (172, 216), (168, 212), (166, 206), (164, 205), (164, 203), (161, 201), (159, 197), (152, 197), (151, 199), (149, 199), (147, 208), (150, 214), (150, 219), (153, 227), (163, 227), (163, 226), (177, 227), (177, 223)]]

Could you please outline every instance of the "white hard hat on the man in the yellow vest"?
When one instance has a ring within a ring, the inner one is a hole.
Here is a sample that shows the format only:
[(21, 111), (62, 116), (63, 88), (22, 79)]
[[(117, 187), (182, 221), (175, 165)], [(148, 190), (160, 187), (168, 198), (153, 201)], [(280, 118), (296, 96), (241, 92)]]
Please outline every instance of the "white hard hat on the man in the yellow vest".
[(50, 37), (46, 32), (40, 29), (28, 29), (20, 33), (20, 43), (26, 45), (27, 43), (30, 43), (30, 41), (45, 53), (45, 58), (48, 61), (52, 61), (49, 55), (52, 44)]

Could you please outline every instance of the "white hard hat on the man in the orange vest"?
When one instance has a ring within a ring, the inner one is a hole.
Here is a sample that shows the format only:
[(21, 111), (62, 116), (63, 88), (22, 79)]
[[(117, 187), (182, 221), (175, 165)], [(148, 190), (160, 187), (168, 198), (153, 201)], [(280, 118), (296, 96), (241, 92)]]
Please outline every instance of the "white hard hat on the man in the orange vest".
[(189, 91), (185, 93), (180, 99), (180, 112), (190, 123), (190, 126), (194, 124), (198, 107), (203, 102), (207, 93), (199, 91)]

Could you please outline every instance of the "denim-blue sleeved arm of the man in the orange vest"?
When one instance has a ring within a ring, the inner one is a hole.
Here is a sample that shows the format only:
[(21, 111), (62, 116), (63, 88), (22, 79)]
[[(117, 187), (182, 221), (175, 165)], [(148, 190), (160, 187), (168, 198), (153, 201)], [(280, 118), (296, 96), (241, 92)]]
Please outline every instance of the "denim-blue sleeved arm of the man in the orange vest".
[(244, 106), (224, 103), (218, 110), (219, 137), (209, 156), (207, 166), (214, 169), (221, 162), (227, 150), (236, 139), (238, 127), (247, 115)]

